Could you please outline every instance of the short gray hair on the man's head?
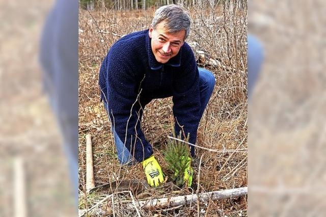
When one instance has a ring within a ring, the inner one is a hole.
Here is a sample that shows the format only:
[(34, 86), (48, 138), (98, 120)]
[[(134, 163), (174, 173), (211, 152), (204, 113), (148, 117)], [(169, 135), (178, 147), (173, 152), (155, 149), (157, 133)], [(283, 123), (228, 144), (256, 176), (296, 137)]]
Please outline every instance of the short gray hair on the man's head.
[(155, 11), (152, 20), (152, 28), (156, 30), (156, 25), (165, 21), (164, 27), (169, 30), (169, 33), (176, 33), (185, 30), (184, 40), (190, 32), (190, 16), (179, 5), (166, 5), (158, 8)]

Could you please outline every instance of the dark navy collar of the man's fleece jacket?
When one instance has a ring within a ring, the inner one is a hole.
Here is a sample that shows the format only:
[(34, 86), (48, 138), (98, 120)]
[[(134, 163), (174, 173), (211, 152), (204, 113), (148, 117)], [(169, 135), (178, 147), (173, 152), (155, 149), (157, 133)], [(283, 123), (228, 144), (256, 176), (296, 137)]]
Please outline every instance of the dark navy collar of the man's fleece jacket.
[(166, 64), (162, 64), (156, 61), (154, 53), (152, 51), (152, 47), (151, 47), (151, 38), (148, 35), (148, 31), (146, 31), (146, 51), (147, 51), (147, 56), (148, 56), (148, 63), (149, 63), (149, 67), (152, 70), (157, 70), (157, 69), (161, 69), (163, 67), (163, 65), (169, 65), (169, 66), (174, 66), (174, 67), (179, 67), (181, 64), (181, 51), (182, 51), (182, 47), (180, 48), (177, 56), (175, 56), (174, 58), (171, 58)]

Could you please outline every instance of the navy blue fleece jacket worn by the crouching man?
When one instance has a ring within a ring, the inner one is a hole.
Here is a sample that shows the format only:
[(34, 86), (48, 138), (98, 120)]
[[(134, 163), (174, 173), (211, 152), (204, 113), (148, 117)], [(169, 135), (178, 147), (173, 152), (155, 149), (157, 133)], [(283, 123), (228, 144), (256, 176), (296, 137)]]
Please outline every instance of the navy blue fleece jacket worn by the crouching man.
[[(153, 154), (141, 130), (143, 109), (152, 99), (172, 96), (176, 134), (182, 127), (185, 135), (190, 135), (189, 142), (196, 143), (199, 73), (187, 43), (177, 56), (161, 64), (152, 52), (148, 30), (126, 35), (113, 44), (103, 60), (99, 86), (116, 133), (137, 161)], [(195, 155), (193, 146), (191, 154)]]

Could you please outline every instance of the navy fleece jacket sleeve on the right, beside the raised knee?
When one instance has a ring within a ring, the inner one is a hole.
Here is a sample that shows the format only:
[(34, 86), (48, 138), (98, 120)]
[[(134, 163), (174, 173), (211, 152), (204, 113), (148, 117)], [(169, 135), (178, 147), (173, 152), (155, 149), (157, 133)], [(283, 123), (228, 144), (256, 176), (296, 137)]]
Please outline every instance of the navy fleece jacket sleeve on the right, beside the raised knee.
[[(197, 129), (200, 122), (200, 90), (199, 72), (196, 65), (195, 56), (191, 48), (186, 45), (182, 50), (183, 64), (180, 66), (176, 78), (174, 79), (173, 115), (175, 117), (175, 132), (181, 139), (189, 133), (189, 143), (195, 144), (197, 139)], [(183, 130), (183, 131), (182, 131)], [(195, 156), (195, 147), (191, 146), (191, 154)]]

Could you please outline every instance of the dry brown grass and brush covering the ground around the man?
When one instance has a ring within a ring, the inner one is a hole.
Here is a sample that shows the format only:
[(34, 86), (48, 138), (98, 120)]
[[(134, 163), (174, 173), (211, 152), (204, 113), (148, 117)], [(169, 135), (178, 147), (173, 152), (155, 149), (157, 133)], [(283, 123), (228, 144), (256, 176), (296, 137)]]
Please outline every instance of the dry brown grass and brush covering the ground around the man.
[[(179, 196), (247, 186), (247, 9), (191, 8), (192, 32), (187, 42), (194, 50), (205, 50), (218, 59), (222, 67), (199, 63), (213, 72), (216, 85), (198, 129), (197, 148), (201, 165), (194, 166), (193, 188), (180, 189), (168, 179), (158, 188), (133, 194), (135, 200)], [(96, 185), (123, 179), (145, 179), (141, 165), (121, 167), (115, 153), (110, 123), (99, 101), (98, 72), (108, 48), (122, 35), (149, 28), (152, 9), (146, 12), (79, 12), (79, 209), (90, 208), (105, 198), (97, 192), (85, 198), (86, 141), (93, 135), (94, 173)], [(196, 42), (196, 43), (195, 43)], [(196, 52), (195, 52), (196, 54)], [(234, 70), (234, 71), (233, 71)], [(144, 111), (143, 130), (153, 145), (162, 170), (169, 176), (162, 150), (171, 134), (172, 100), (156, 99)], [(199, 161), (199, 160), (198, 160)], [(200, 176), (198, 171), (200, 169)], [(198, 182), (198, 180), (200, 180)], [(113, 198), (113, 199), (112, 199)], [(86, 202), (87, 201), (87, 202)], [(116, 216), (246, 216), (246, 198), (210, 201), (169, 210), (127, 209), (129, 193), (115, 193), (103, 201), (92, 215)], [(113, 205), (114, 204), (114, 205)]]

